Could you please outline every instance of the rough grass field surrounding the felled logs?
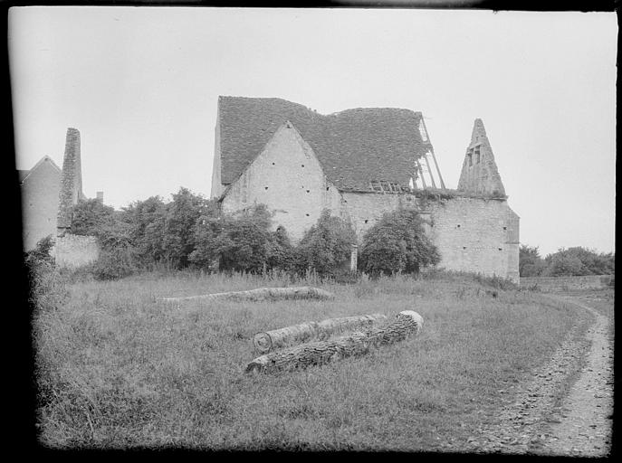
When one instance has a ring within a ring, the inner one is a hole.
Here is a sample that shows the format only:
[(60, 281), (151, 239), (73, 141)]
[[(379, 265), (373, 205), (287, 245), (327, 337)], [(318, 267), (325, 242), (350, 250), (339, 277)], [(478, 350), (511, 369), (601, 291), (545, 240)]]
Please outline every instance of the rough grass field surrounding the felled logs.
[[(39, 439), (53, 448), (442, 450), (492, 420), (545, 362), (575, 308), (483, 279), (435, 274), (318, 284), (332, 301), (156, 298), (292, 284), (254, 276), (143, 275), (70, 285), (33, 322)], [(315, 284), (315, 281), (296, 285)], [(292, 373), (244, 373), (254, 333), (412, 309), (420, 335)]]

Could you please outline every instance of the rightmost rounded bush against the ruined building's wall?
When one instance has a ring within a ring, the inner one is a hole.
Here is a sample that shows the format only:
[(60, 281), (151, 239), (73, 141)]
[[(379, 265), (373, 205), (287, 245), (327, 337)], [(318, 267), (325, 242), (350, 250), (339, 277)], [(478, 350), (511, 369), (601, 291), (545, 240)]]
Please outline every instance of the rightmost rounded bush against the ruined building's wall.
[(423, 220), (413, 210), (385, 213), (363, 236), (360, 267), (372, 275), (418, 273), (441, 256), (427, 237)]

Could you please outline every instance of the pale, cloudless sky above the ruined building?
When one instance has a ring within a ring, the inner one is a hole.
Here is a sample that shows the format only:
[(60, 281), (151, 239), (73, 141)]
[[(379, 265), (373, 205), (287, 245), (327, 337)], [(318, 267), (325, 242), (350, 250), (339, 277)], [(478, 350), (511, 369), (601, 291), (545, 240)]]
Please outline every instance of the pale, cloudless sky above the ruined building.
[(119, 209), (209, 197), (219, 95), (421, 111), (448, 188), (482, 118), (521, 243), (615, 251), (615, 13), (24, 6), (9, 11), (15, 164)]

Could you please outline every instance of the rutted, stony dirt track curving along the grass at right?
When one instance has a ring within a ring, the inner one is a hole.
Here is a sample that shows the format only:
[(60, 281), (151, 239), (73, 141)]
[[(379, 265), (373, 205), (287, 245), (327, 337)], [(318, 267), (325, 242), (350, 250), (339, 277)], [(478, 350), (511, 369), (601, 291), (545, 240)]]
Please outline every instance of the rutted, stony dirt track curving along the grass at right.
[(574, 304), (588, 317), (573, 328), (549, 363), (534, 372), (498, 420), (478, 430), (463, 450), (569, 457), (610, 453), (613, 320), (579, 298), (550, 298)]

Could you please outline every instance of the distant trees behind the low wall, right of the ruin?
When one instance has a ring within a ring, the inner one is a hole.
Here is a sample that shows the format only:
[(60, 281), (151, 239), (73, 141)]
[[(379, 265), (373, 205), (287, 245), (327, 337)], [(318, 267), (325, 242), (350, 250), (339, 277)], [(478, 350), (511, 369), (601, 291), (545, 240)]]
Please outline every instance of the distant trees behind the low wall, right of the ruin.
[(562, 248), (542, 259), (538, 247), (522, 245), (519, 250), (519, 272), (521, 277), (615, 275), (616, 254), (579, 246)]

